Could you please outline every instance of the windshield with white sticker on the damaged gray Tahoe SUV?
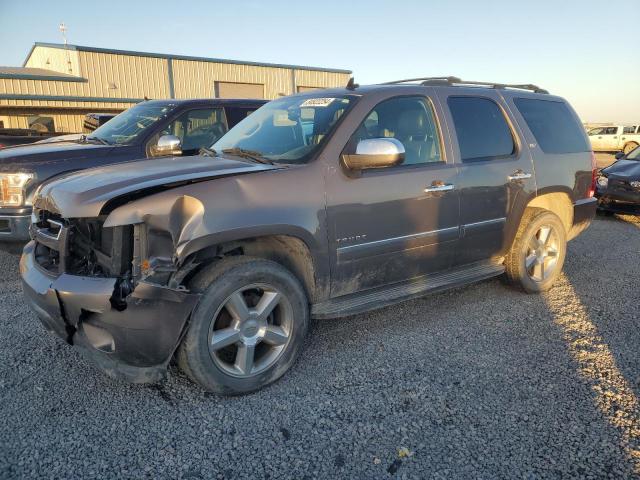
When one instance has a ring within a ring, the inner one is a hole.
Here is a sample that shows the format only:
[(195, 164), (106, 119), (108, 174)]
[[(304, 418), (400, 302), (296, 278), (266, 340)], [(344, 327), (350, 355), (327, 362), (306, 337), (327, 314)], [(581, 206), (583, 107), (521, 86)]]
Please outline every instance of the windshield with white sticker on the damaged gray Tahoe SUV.
[(242, 149), (274, 162), (304, 163), (355, 103), (355, 96), (285, 97), (256, 110), (218, 140), (213, 149)]

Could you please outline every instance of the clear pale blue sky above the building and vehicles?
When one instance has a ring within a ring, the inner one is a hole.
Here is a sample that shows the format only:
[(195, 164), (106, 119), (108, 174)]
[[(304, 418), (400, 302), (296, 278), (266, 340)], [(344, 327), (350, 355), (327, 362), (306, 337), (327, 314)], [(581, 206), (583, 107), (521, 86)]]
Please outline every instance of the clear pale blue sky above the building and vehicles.
[(0, 0), (0, 65), (36, 42), (347, 68), (356, 81), (535, 83), (640, 123), (640, 0)]

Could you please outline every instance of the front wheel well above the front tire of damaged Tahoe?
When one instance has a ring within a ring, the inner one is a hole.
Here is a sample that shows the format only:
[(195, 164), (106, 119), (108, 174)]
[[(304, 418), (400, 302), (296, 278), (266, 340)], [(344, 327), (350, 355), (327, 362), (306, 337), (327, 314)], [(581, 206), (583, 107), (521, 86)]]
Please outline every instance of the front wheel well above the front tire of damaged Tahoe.
[(311, 302), (316, 300), (319, 292), (313, 256), (305, 242), (290, 235), (268, 235), (234, 240), (200, 250), (193, 254), (194, 263), (197, 263), (198, 267), (189, 273), (186, 282), (188, 283), (197, 272), (215, 261), (236, 255), (264, 258), (279, 263), (300, 280), (309, 300)]

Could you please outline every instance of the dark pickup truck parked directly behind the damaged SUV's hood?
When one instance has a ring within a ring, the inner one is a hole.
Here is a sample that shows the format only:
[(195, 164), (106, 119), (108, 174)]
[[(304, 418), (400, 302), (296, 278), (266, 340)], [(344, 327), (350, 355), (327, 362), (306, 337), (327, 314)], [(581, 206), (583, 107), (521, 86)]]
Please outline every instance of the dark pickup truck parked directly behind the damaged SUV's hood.
[(31, 198), (61, 173), (130, 160), (195, 155), (266, 100), (151, 100), (89, 135), (0, 150), (0, 241), (29, 239)]

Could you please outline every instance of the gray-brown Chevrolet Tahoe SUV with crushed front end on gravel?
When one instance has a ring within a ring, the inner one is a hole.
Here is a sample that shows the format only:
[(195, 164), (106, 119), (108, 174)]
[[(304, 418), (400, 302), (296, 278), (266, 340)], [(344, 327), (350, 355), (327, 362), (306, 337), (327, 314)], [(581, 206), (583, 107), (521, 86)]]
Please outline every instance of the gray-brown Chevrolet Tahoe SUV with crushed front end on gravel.
[[(416, 83), (418, 82), (418, 83)], [(43, 185), (21, 259), (44, 325), (106, 373), (265, 386), (309, 319), (503, 275), (551, 287), (595, 214), (593, 154), (531, 85), (425, 78), (272, 101), (206, 154)]]

